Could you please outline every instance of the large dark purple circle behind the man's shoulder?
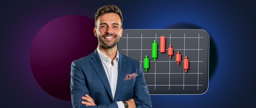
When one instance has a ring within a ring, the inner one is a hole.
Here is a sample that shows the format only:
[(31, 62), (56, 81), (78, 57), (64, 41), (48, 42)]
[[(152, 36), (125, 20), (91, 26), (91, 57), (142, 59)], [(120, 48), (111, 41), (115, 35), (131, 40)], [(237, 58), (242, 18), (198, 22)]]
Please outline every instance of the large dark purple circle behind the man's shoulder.
[(93, 19), (67, 15), (53, 19), (38, 32), (30, 50), (30, 66), (36, 81), (48, 94), (71, 101), (71, 62), (97, 48), (93, 28)]

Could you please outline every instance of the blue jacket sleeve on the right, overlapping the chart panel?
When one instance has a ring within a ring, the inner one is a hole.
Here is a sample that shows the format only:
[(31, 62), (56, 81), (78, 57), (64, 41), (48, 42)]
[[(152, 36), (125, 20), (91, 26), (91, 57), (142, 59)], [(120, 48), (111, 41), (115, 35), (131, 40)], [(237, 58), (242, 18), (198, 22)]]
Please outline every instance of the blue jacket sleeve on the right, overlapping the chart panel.
[(138, 76), (136, 77), (134, 84), (133, 99), (136, 104), (136, 108), (152, 108), (151, 98), (148, 92), (148, 86), (146, 84), (142, 67), (138, 60)]

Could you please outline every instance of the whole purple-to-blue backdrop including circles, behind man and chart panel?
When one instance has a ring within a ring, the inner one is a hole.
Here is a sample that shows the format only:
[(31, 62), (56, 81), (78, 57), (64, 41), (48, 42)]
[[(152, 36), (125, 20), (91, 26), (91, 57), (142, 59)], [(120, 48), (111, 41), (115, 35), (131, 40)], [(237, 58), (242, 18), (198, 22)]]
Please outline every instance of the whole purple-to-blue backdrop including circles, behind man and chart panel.
[(255, 1), (44, 0), (0, 3), (0, 107), (72, 108), (71, 62), (96, 49), (94, 14), (112, 4), (122, 11), (123, 29), (204, 29), (210, 35), (208, 91), (151, 95), (153, 108), (255, 106)]

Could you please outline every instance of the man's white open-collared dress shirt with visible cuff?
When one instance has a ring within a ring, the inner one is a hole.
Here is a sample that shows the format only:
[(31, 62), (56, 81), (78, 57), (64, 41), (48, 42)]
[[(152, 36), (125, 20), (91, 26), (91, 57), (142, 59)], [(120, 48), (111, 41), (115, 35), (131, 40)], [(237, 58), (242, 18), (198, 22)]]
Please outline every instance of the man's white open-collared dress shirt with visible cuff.
[[(118, 77), (118, 61), (119, 61), (119, 54), (117, 50), (117, 56), (113, 60), (113, 66), (111, 64), (111, 58), (106, 56), (101, 50), (97, 47), (97, 52), (100, 56), (101, 62), (103, 64), (104, 70), (108, 77), (108, 82), (111, 88), (113, 99), (115, 98), (116, 88), (117, 88), (117, 77)], [(117, 102), (118, 108), (124, 108), (123, 102)]]

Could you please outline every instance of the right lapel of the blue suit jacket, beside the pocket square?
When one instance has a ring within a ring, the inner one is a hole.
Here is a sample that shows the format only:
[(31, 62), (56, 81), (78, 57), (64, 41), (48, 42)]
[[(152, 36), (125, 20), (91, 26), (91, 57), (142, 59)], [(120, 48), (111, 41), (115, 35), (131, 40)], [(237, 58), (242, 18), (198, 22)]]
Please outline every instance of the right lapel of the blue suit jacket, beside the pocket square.
[(127, 65), (126, 64), (127, 63), (126, 63), (126, 60), (123, 58), (123, 55), (121, 55), (119, 53), (117, 88), (116, 88), (114, 102), (117, 101), (117, 99), (118, 99), (118, 97), (120, 95), (120, 91), (122, 91), (124, 77), (126, 76), (126, 70), (127, 70)]

